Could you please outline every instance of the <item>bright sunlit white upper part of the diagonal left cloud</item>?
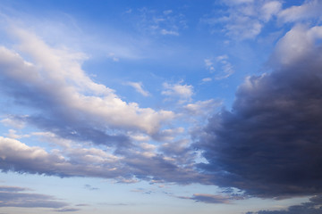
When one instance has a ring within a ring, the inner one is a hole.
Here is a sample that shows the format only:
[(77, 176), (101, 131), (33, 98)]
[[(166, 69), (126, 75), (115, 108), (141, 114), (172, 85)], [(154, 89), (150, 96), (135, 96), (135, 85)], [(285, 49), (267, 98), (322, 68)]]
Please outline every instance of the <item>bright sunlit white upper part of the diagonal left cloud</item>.
[[(21, 39), (19, 48), (31, 57), (33, 65), (25, 63), (19, 53), (2, 46), (0, 66), (4, 69), (1, 73), (15, 81), (13, 93), (29, 85), (30, 94), (23, 99), (28, 99), (33, 107), (49, 115), (64, 114), (65, 119), (75, 124), (88, 123), (121, 131), (135, 129), (148, 134), (156, 133), (163, 122), (174, 118), (172, 111), (154, 111), (140, 108), (137, 103), (125, 103), (113, 89), (92, 81), (81, 69), (81, 62), (86, 59), (83, 53), (54, 49), (22, 29), (15, 29), (13, 33)], [(46, 97), (43, 104), (52, 108), (38, 106), (37, 97)]]

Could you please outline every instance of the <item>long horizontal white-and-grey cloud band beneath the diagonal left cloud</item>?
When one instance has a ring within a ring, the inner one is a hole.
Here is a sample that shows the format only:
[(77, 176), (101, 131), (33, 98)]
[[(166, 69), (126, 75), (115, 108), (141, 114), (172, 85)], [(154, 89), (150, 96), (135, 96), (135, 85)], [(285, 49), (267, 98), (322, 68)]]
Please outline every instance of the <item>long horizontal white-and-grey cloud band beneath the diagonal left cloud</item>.
[(143, 179), (191, 184), (195, 179), (205, 179), (191, 169), (192, 157), (186, 160), (169, 159), (148, 144), (118, 148), (114, 154), (108, 148), (84, 148), (78, 143), (67, 144), (62, 151), (53, 149), (47, 152), (43, 148), (0, 136), (0, 169), (3, 172), (114, 178), (122, 183)]

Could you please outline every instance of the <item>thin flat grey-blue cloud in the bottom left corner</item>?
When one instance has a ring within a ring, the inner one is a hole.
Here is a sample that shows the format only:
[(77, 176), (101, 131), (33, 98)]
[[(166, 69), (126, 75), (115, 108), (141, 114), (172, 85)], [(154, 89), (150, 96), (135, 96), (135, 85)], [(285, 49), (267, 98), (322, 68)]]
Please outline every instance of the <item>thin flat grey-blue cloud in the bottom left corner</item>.
[(0, 186), (0, 207), (64, 208), (69, 205), (50, 195), (23, 193), (27, 190), (19, 186)]

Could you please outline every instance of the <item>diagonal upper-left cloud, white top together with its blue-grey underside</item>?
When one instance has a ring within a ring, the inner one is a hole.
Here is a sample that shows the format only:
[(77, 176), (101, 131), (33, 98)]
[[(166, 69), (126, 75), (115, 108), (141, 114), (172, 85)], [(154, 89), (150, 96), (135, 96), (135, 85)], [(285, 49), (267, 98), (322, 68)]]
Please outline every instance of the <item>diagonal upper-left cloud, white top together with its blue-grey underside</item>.
[(138, 103), (125, 103), (114, 90), (92, 81), (81, 69), (85, 59), (82, 53), (54, 49), (21, 29), (13, 30), (13, 34), (21, 39), (18, 47), (32, 63), (2, 46), (0, 81), (4, 95), (38, 111), (21, 118), (22, 121), (55, 130), (57, 135), (67, 138), (114, 144), (128, 141), (126, 131), (151, 135), (174, 118), (172, 111), (154, 111), (140, 108)]

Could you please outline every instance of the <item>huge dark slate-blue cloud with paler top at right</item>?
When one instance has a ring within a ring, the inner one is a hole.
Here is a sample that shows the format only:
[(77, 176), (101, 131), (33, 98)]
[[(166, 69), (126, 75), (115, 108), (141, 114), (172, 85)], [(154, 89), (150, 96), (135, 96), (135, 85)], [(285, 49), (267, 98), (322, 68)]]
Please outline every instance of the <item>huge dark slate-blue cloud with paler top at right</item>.
[(274, 70), (247, 78), (233, 109), (209, 119), (196, 146), (214, 184), (263, 198), (322, 193), (321, 30), (290, 30)]

